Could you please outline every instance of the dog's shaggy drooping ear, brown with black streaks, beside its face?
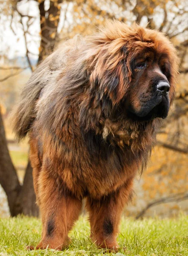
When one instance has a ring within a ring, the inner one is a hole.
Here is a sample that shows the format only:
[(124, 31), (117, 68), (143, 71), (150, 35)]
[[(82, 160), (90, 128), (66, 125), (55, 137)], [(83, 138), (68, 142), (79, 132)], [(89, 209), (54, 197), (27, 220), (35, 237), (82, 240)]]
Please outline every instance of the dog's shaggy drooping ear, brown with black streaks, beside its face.
[(127, 64), (127, 48), (122, 47), (118, 53), (110, 57), (102, 56), (100, 63), (96, 61), (90, 75), (91, 87), (98, 91), (100, 99), (104, 95), (105, 99), (108, 96), (112, 105), (117, 105), (126, 96), (130, 83), (130, 70)]

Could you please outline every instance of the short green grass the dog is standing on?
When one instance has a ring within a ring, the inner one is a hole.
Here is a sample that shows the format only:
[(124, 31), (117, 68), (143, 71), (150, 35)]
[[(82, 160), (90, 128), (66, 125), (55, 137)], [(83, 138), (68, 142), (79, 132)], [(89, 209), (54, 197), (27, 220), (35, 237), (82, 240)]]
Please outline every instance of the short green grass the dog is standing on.
[(80, 217), (72, 239), (64, 251), (26, 251), (28, 244), (37, 245), (40, 240), (41, 223), (36, 218), (17, 217), (0, 220), (0, 256), (17, 255), (116, 255), (116, 256), (172, 256), (188, 255), (188, 216), (177, 219), (144, 219), (134, 221), (123, 218), (118, 241), (119, 252), (99, 250), (90, 241), (90, 226), (87, 218)]

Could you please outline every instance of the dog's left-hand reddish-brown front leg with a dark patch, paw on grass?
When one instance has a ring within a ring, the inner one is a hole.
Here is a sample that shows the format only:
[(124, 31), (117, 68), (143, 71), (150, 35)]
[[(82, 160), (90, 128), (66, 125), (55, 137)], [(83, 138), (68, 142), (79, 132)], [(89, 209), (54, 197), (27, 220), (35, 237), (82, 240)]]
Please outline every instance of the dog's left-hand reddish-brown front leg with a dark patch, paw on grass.
[(49, 172), (44, 166), (38, 179), (38, 190), (43, 231), (36, 249), (61, 250), (69, 241), (68, 232), (78, 219), (82, 202), (72, 195), (55, 172), (52, 175), (52, 170)]

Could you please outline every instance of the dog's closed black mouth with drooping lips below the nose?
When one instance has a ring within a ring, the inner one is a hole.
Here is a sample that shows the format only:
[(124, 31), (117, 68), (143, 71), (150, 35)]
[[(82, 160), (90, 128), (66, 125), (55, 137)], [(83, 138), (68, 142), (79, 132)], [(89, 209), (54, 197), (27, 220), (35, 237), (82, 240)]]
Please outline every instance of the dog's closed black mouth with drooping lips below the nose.
[(162, 97), (160, 102), (158, 102), (157, 105), (155, 105), (148, 113), (143, 114), (143, 112), (136, 113), (135, 111), (132, 111), (131, 109), (128, 111), (128, 117), (131, 119), (134, 119), (136, 121), (150, 121), (156, 118), (162, 118), (165, 119), (168, 116), (169, 111), (169, 98), (168, 97)]

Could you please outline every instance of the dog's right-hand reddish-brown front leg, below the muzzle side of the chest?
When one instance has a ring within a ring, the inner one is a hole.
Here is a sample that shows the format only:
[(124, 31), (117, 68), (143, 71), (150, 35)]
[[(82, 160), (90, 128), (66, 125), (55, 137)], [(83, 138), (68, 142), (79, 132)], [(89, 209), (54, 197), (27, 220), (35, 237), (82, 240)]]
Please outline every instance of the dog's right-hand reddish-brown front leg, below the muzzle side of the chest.
[(87, 198), (86, 207), (90, 214), (91, 238), (98, 247), (117, 250), (116, 236), (124, 205), (130, 198), (132, 179), (101, 199)]

